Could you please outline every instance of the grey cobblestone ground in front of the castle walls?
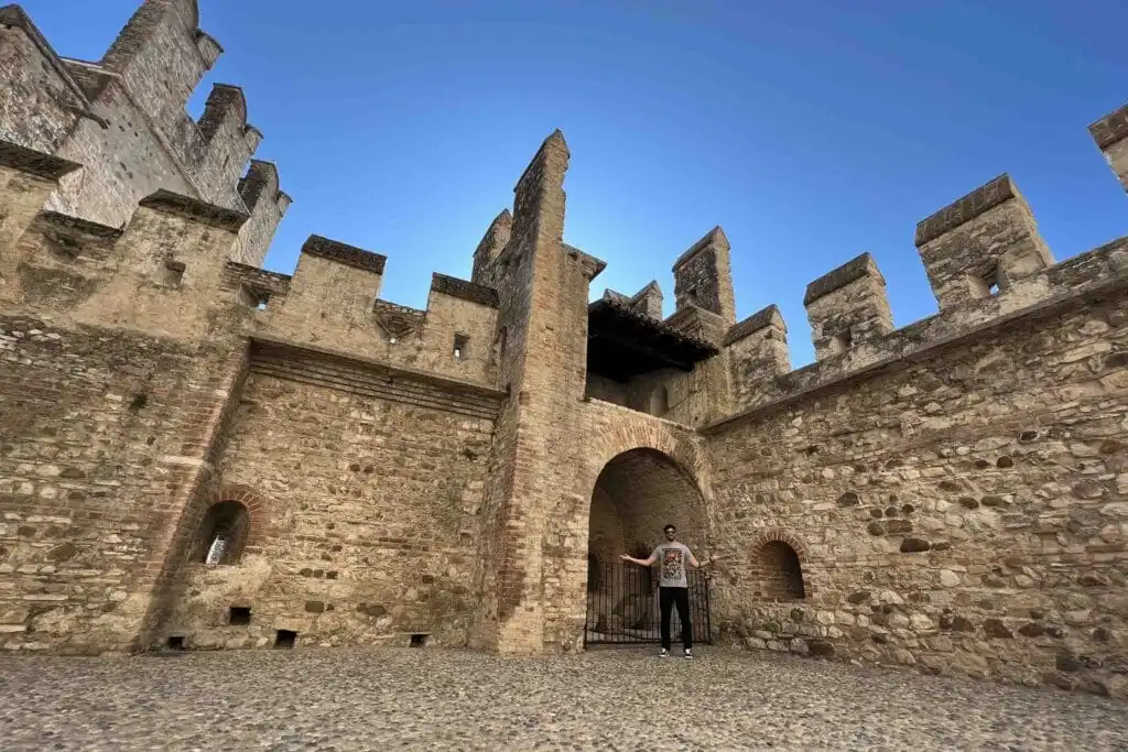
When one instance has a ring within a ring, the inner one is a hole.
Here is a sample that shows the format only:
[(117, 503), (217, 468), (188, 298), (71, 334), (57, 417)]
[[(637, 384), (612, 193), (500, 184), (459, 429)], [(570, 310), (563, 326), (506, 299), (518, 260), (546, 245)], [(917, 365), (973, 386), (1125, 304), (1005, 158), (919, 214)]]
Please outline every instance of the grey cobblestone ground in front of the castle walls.
[(1093, 696), (703, 648), (0, 658), (0, 750), (1126, 750)]

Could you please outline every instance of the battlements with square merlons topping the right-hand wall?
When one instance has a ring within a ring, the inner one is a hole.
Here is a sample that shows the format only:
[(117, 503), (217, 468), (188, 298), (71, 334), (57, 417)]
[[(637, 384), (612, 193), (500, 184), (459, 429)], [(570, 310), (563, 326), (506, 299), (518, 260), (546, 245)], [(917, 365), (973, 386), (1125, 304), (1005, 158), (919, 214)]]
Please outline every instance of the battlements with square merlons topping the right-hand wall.
[[(1098, 145), (1123, 142), (1126, 118), (1128, 107), (1090, 126)], [(862, 254), (807, 287), (817, 363), (788, 372), (786, 327), (775, 307), (730, 328), (723, 345), (737, 415), (1128, 283), (1128, 238), (1054, 264), (1006, 174), (922, 220), (915, 241), (940, 313), (895, 330), (884, 277)]]

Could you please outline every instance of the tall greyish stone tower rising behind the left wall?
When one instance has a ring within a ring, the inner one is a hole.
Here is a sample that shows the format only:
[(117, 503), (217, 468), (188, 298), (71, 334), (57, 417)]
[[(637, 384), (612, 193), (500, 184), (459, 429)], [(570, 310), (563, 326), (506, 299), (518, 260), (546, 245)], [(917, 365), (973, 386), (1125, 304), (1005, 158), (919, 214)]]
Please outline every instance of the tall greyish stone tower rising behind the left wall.
[(47, 209), (122, 227), (142, 197), (169, 191), (250, 213), (232, 253), (262, 262), (289, 200), (246, 203), (244, 168), (263, 134), (238, 87), (215, 85), (199, 122), (185, 110), (222, 53), (195, 0), (146, 0), (98, 62), (61, 57), (18, 6), (0, 8), (0, 43), (12, 51), (0, 59), (0, 141), (85, 167)]

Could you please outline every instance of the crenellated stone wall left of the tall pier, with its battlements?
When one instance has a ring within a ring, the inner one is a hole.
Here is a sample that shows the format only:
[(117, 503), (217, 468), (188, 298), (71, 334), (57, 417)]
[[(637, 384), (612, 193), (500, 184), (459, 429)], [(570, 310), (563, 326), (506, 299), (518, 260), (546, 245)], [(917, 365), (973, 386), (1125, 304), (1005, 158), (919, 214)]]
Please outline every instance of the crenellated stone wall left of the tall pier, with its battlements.
[[(0, 460), (5, 646), (465, 644), (496, 292), (435, 274), (389, 346), (381, 256), (314, 237), (292, 277), (266, 272), (230, 259), (246, 214), (157, 192), (105, 227), (35, 209), (79, 166), (10, 144), (0, 163), (3, 445), (36, 437)], [(253, 543), (205, 566), (232, 499)]]

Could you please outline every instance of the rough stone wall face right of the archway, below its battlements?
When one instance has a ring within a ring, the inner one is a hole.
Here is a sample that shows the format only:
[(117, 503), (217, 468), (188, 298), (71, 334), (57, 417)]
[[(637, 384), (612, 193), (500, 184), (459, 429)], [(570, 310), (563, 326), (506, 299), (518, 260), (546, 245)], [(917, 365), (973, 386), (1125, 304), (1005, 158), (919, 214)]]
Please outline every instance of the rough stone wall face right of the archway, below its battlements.
[[(1122, 692), (1125, 285), (711, 431), (735, 636)], [(756, 576), (772, 531), (801, 601)]]

